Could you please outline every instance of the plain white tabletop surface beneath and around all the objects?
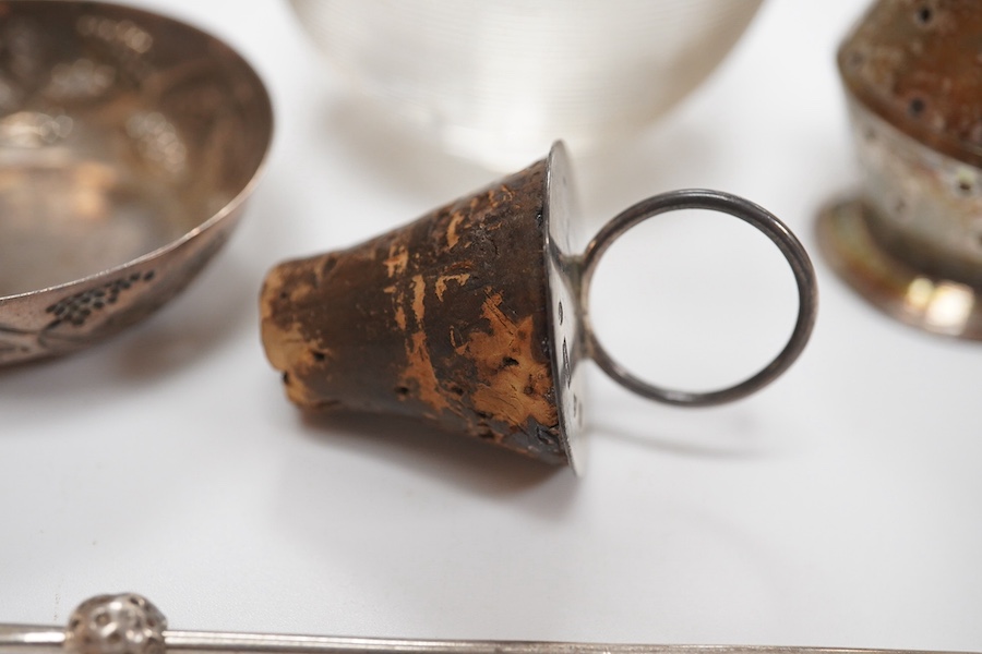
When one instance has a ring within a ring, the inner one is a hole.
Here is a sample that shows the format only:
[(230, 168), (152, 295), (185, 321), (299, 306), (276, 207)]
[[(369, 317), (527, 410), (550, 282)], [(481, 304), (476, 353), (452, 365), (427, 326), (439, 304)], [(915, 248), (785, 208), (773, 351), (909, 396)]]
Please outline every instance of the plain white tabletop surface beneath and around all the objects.
[[(664, 408), (591, 375), (577, 479), (284, 399), (259, 341), (266, 269), (496, 173), (379, 128), (286, 3), (146, 2), (253, 62), (276, 143), (188, 293), (111, 343), (0, 372), (0, 618), (62, 622), (134, 590), (182, 629), (982, 650), (982, 348), (887, 320), (814, 247), (817, 210), (857, 180), (833, 53), (864, 4), (766, 1), (679, 110), (575, 161), (588, 232), (718, 187), (798, 231), (822, 288), (810, 348), (746, 401)], [(794, 311), (763, 238), (708, 220), (646, 226), (597, 281), (604, 339), (660, 382), (752, 372)]]

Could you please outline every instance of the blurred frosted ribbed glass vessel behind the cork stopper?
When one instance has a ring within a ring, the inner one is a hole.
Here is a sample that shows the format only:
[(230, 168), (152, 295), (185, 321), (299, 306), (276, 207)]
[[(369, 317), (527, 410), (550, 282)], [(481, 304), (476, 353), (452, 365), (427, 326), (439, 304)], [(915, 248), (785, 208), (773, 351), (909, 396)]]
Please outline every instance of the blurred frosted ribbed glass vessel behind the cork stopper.
[(634, 134), (726, 57), (761, 0), (290, 0), (330, 61), (494, 167)]

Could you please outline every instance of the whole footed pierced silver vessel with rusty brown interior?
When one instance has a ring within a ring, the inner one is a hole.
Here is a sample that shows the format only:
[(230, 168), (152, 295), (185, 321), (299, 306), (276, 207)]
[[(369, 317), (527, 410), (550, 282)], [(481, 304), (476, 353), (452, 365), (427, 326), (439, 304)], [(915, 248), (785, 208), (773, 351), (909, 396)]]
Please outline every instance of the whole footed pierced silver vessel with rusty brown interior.
[(833, 268), (908, 325), (982, 339), (982, 4), (874, 2), (839, 73), (862, 191), (819, 216)]

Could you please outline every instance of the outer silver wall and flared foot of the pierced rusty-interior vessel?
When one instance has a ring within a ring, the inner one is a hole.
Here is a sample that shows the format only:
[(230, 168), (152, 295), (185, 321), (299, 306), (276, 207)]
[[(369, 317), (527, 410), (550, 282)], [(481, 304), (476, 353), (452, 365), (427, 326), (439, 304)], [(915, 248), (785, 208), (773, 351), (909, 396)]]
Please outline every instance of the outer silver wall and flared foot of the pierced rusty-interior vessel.
[(982, 169), (849, 107), (863, 193), (819, 216), (823, 254), (887, 315), (982, 340)]

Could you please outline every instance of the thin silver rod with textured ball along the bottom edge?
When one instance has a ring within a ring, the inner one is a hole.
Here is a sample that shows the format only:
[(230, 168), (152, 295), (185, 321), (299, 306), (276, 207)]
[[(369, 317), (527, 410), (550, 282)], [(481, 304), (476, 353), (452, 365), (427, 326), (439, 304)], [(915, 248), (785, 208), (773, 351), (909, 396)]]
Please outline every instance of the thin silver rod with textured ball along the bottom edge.
[(165, 652), (167, 654), (914, 654), (911, 650), (407, 640), (176, 631), (167, 628), (167, 619), (153, 604), (145, 597), (132, 593), (99, 595), (82, 603), (69, 618), (67, 629), (0, 625), (0, 654), (165, 654)]

